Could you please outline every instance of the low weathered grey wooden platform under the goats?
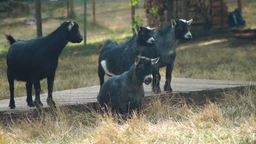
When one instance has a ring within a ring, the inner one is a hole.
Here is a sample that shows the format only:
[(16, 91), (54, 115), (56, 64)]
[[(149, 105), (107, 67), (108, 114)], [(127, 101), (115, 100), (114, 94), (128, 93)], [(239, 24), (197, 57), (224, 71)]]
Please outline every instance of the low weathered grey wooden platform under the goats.
[[(163, 91), (165, 77), (162, 77), (160, 82)], [(226, 91), (234, 91), (236, 89), (245, 88), (245, 86), (255, 87), (256, 82), (238, 82), (238, 81), (223, 81), (223, 80), (200, 80), (200, 79), (183, 79), (173, 78), (171, 94), (162, 92), (161, 95), (182, 95), (185, 99), (194, 103), (205, 103), (207, 99), (213, 100), (221, 98), (222, 93)], [(25, 87), (24, 87), (25, 88)], [(77, 105), (97, 102), (97, 94), (100, 86), (84, 87), (77, 89), (68, 89), (65, 91), (54, 92), (53, 98), (57, 105)], [(152, 92), (151, 85), (144, 85), (146, 97), (156, 95)], [(40, 94), (40, 99), (44, 104), (43, 107), (48, 107), (46, 103), (48, 94)], [(33, 97), (34, 99), (34, 97)], [(9, 99), (0, 100), (0, 115), (32, 113), (36, 111), (35, 107), (28, 107), (26, 97), (15, 98), (15, 109), (9, 108)]]

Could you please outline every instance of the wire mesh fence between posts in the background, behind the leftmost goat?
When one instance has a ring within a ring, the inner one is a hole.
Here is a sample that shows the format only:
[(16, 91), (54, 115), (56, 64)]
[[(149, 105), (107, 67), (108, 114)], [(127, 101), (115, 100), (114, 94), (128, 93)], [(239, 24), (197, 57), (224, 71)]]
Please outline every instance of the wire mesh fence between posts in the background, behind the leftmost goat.
[[(15, 3), (16, 2), (16, 3)], [(131, 7), (127, 0), (96, 0), (95, 23), (92, 17), (92, 0), (87, 2), (87, 40), (101, 41), (113, 37), (131, 35)], [(15, 39), (31, 39), (37, 36), (35, 20), (35, 2), (4, 1), (0, 2), (0, 31), (14, 36)], [(144, 1), (136, 6), (136, 14), (140, 21), (147, 25), (143, 9)], [(62, 21), (78, 22), (83, 32), (84, 1), (74, 0), (74, 18), (68, 17), (68, 0), (42, 0), (42, 30), (43, 36), (54, 31)], [(69, 9), (70, 12), (70, 9)], [(0, 35), (0, 44), (6, 43), (4, 35)]]

